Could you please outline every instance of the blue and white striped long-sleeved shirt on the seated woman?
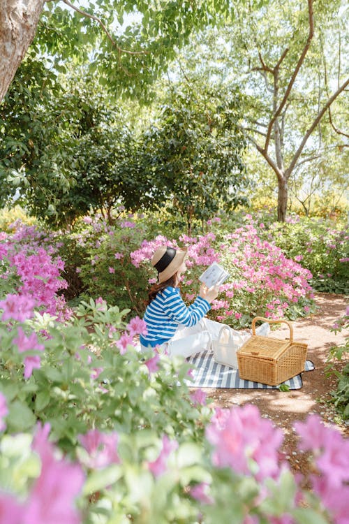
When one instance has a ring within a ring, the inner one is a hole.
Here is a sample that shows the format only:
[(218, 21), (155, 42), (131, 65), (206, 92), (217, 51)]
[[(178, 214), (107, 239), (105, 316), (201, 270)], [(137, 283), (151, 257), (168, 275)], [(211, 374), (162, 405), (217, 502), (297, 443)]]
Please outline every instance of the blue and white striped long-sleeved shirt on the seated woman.
[(159, 291), (145, 310), (144, 321), (148, 333), (140, 335), (141, 344), (154, 347), (156, 344), (168, 342), (176, 332), (178, 324), (195, 326), (210, 308), (207, 300), (200, 296), (186, 307), (177, 287), (169, 286)]

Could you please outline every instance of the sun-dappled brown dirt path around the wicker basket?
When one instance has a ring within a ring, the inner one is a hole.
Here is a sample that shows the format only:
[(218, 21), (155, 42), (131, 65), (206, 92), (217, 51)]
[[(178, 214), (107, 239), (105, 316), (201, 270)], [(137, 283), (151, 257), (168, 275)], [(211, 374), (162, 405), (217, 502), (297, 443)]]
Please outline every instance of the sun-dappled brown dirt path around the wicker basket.
[[(297, 451), (297, 436), (292, 428), (295, 421), (304, 421), (309, 413), (317, 413), (325, 424), (335, 424), (343, 436), (349, 436), (349, 425), (341, 423), (336, 416), (330, 392), (335, 389), (336, 379), (325, 374), (326, 358), (329, 348), (344, 342), (344, 332), (331, 332), (329, 328), (346, 312), (348, 301), (344, 296), (317, 293), (315, 302), (318, 312), (306, 319), (292, 322), (294, 338), (308, 344), (307, 359), (315, 365), (315, 370), (302, 373), (303, 387), (296, 391), (257, 389), (205, 389), (214, 400), (214, 405), (231, 407), (250, 403), (258, 406), (262, 416), (271, 419), (283, 429), (285, 434), (283, 452), (293, 471), (306, 473), (308, 458)], [(272, 336), (287, 337), (288, 327), (278, 328)], [(348, 333), (347, 333), (348, 335)], [(343, 363), (341, 363), (343, 366)]]

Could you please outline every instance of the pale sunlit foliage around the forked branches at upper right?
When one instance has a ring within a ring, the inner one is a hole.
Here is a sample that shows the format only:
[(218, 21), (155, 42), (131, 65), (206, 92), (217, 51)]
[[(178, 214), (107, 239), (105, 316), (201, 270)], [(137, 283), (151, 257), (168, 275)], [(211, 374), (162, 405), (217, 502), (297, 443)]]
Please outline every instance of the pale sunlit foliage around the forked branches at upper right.
[[(309, 214), (315, 193), (331, 192), (335, 186), (338, 191), (331, 196), (338, 197), (348, 184), (343, 90), (320, 115), (336, 87), (346, 87), (348, 82), (342, 66), (348, 59), (343, 46), (348, 13), (341, 0), (332, 2), (330, 15), (322, 1), (272, 0), (267, 7), (234, 3), (232, 23), (193, 35), (172, 67), (179, 82), (198, 74), (223, 89), (239, 86), (244, 95), (241, 129), (264, 162), (262, 171), (269, 170), (274, 178), (272, 191), (279, 189), (279, 210), (284, 205), (286, 212), (290, 196)], [(309, 6), (313, 36), (309, 36)], [(253, 163), (255, 154), (251, 152)], [(250, 171), (253, 180), (263, 177), (259, 171), (260, 166)]]

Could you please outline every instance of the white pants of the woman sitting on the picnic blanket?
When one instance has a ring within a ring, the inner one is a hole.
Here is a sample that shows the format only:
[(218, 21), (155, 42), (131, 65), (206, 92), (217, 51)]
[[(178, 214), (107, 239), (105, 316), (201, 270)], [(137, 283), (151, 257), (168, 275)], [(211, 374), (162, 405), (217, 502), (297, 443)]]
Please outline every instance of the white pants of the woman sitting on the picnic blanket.
[[(206, 351), (211, 349), (212, 340), (218, 340), (219, 332), (223, 326), (232, 331), (232, 336), (237, 340), (238, 345), (242, 345), (251, 336), (248, 333), (235, 331), (230, 326), (207, 319), (204, 316), (200, 322), (190, 328), (179, 324), (176, 333), (168, 342), (161, 344), (159, 351), (166, 352), (169, 356), (181, 355), (185, 358), (195, 353), (200, 353), (200, 351)], [(269, 333), (269, 324), (264, 323), (262, 326), (259, 326), (256, 329), (256, 333), (267, 335)]]

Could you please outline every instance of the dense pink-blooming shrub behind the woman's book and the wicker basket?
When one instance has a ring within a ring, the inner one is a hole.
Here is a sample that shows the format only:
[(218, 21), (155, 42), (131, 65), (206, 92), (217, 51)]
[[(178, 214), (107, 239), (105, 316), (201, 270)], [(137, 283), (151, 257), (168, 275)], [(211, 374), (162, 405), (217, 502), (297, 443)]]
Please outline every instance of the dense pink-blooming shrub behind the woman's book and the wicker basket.
[[(239, 327), (251, 325), (254, 316), (295, 319), (313, 311), (313, 292), (308, 284), (311, 273), (286, 259), (272, 242), (261, 240), (253, 226), (243, 226), (224, 235), (212, 232), (198, 238), (181, 235), (179, 240), (188, 247), (189, 275), (183, 275), (181, 286), (186, 300), (196, 296), (198, 277), (207, 265), (218, 261), (230, 272), (228, 283), (223, 284), (222, 293), (211, 305), (212, 318)], [(140, 249), (131, 252), (133, 265), (149, 266), (149, 258), (163, 244), (177, 247), (175, 240), (162, 235), (151, 241), (143, 240)]]

